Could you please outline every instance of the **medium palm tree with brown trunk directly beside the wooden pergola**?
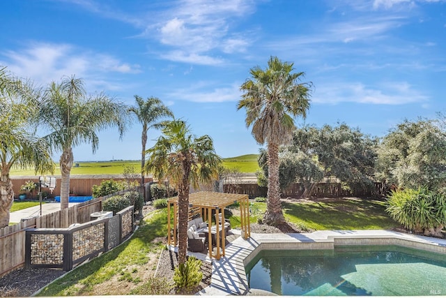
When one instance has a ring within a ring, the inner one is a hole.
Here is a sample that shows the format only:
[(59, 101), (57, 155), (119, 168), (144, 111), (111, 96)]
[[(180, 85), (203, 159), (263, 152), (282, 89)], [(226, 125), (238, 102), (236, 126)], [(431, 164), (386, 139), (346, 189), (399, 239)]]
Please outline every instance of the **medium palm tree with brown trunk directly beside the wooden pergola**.
[(208, 135), (192, 135), (185, 121), (166, 121), (161, 131), (155, 145), (146, 151), (146, 172), (153, 172), (158, 179), (169, 178), (178, 188), (178, 264), (183, 264), (190, 184), (198, 187), (199, 181), (216, 177), (221, 158), (215, 154), (213, 140)]

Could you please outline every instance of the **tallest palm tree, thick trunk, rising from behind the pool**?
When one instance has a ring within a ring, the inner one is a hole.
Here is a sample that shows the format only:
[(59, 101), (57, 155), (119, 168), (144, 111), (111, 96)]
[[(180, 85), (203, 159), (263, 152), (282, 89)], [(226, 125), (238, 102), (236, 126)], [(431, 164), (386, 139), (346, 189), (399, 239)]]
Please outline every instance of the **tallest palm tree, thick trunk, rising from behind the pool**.
[(307, 116), (312, 83), (301, 83), (304, 73), (291, 73), (293, 63), (270, 57), (268, 68), (251, 68), (251, 78), (240, 90), (238, 110), (246, 109), (246, 126), (259, 144), (268, 146), (268, 209), (264, 221), (269, 225), (285, 222), (280, 203), (279, 146), (287, 144), (295, 130), (293, 117)]

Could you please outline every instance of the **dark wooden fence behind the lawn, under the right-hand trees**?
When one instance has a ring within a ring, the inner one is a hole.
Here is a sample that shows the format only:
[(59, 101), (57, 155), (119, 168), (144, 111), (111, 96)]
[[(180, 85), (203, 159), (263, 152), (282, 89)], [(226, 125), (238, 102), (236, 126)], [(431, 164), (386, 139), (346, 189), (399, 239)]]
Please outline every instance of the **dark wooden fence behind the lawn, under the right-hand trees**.
[[(381, 188), (380, 183), (375, 184), (376, 193)], [(258, 184), (224, 184), (224, 193), (240, 193), (249, 195), (249, 198), (266, 197), (268, 188), (259, 186)], [(291, 184), (289, 188), (282, 191), (282, 198), (294, 197), (298, 198), (302, 196), (305, 188), (300, 183)], [(367, 191), (361, 188), (357, 190), (346, 190), (342, 188), (340, 183), (320, 183), (314, 188), (312, 196), (316, 197), (328, 197), (328, 198), (341, 198), (346, 196), (371, 196), (374, 195), (373, 191)]]

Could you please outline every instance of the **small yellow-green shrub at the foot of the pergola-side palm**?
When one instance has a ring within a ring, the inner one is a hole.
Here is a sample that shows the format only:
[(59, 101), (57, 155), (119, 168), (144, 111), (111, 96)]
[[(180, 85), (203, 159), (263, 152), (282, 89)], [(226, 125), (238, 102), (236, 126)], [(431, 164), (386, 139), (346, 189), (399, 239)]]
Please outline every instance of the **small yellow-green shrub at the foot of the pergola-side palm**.
[(184, 264), (179, 264), (175, 268), (174, 283), (176, 288), (191, 290), (198, 285), (203, 278), (203, 273), (200, 270), (201, 260), (195, 257), (187, 258)]

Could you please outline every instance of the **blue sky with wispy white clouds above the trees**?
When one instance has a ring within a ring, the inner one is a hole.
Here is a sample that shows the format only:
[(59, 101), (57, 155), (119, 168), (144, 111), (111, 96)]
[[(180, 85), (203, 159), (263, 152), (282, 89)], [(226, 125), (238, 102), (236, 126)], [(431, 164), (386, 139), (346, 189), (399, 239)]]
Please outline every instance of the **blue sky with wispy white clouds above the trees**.
[[(257, 153), (239, 87), (270, 56), (314, 84), (307, 119), (383, 136), (446, 107), (446, 1), (1, 1), (0, 65), (46, 86), (76, 75), (128, 105), (155, 96), (213, 137), (222, 157)], [(76, 161), (139, 159), (141, 127)], [(159, 135), (149, 131), (148, 147)], [(55, 156), (59, 160), (59, 156)]]

